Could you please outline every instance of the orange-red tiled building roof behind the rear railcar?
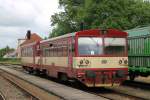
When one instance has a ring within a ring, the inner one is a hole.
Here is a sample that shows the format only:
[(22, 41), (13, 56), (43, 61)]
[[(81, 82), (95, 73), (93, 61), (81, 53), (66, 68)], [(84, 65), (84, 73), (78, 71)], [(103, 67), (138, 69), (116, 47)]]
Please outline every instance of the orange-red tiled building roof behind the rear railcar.
[(36, 33), (32, 33), (30, 39), (26, 39), (23, 43), (20, 44), (20, 46), (41, 40), (42, 38), (39, 35), (37, 35)]

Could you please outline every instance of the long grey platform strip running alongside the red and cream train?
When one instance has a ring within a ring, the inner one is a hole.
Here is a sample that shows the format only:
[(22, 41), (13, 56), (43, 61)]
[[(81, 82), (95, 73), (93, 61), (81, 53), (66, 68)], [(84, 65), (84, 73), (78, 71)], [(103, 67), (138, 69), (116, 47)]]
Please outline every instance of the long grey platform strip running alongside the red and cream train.
[[(54, 97), (56, 97), (55, 99), (62, 99), (62, 100), (108, 100), (106, 98), (103, 98), (103, 97), (100, 97), (100, 96), (97, 96), (94, 94), (90, 94), (90, 93), (84, 92), (82, 90), (67, 87), (63, 84), (59, 84), (59, 83), (53, 82), (51, 80), (46, 80), (44, 78), (40, 78), (40, 77), (36, 77), (36, 76), (30, 75), (27, 73), (19, 72), (19, 71), (16, 71), (14, 69), (7, 68), (6, 66), (0, 66), (0, 70), (1, 70), (0, 75), (7, 76), (7, 74), (9, 73), (10, 75), (7, 77), (15, 76), (15, 77), (19, 78), (20, 80), (23, 80), (23, 81), (27, 82), (28, 84), (30, 83), (30, 84), (36, 86), (36, 88), (39, 88), (39, 89), (42, 89), (45, 91), (45, 92), (41, 92), (41, 93), (43, 93), (43, 94), (48, 93), (50, 95), (53, 95)], [(7, 73), (7, 74), (5, 74), (5, 73)], [(15, 80), (13, 77), (10, 79)], [(29, 86), (27, 86), (27, 83), (26, 83), (26, 87), (24, 89), (36, 92), (36, 89), (35, 90), (34, 90), (34, 88), (31, 89)], [(19, 84), (19, 81), (18, 81), (18, 84)], [(22, 87), (23, 87), (23, 85), (22, 85)], [(48, 97), (46, 99), (48, 99)]]

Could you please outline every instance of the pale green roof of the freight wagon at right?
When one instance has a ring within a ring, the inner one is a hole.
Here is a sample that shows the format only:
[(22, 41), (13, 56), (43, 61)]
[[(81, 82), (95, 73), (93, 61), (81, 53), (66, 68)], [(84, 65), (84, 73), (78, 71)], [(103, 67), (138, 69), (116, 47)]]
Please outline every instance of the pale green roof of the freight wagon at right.
[(150, 26), (134, 28), (134, 29), (126, 30), (125, 32), (128, 33), (128, 37), (149, 35)]

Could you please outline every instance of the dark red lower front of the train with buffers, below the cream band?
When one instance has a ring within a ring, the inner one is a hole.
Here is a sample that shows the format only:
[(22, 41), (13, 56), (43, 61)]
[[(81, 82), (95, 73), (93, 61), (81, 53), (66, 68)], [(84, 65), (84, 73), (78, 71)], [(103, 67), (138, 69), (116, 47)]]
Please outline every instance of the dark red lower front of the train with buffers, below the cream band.
[(88, 87), (118, 86), (127, 74), (127, 70), (79, 70), (77, 79)]

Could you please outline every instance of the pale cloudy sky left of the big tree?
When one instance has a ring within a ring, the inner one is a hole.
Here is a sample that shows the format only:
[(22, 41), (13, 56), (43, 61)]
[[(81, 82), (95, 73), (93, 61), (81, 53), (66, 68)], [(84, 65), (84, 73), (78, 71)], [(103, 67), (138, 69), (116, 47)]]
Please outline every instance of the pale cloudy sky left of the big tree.
[(27, 30), (48, 36), (50, 16), (60, 10), (58, 0), (0, 0), (0, 48), (16, 48)]

